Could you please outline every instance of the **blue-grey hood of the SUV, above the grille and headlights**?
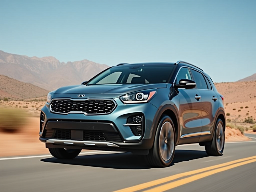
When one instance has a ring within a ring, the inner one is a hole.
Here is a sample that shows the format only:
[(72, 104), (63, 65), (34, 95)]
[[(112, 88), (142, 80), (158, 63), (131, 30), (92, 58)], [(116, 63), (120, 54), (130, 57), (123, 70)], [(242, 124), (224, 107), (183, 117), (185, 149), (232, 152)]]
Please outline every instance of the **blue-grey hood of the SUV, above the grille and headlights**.
[(74, 85), (61, 87), (53, 94), (127, 94), (135, 91), (166, 88), (166, 83), (156, 84), (100, 84), (100, 85)]

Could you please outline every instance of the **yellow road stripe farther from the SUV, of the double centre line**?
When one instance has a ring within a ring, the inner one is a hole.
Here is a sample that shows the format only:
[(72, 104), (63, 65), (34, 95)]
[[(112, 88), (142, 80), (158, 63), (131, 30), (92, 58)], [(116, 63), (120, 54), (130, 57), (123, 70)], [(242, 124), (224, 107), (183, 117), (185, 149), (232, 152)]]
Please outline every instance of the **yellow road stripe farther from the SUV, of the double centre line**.
[(143, 192), (155, 192), (155, 191), (162, 192), (162, 191), (166, 191), (166, 190), (173, 189), (175, 187), (193, 182), (195, 180), (207, 177), (209, 175), (213, 175), (215, 173), (226, 171), (228, 169), (232, 169), (234, 167), (239, 167), (241, 165), (245, 165), (245, 164), (252, 163), (252, 162), (256, 162), (256, 159), (251, 159), (249, 161), (244, 161), (244, 162), (241, 162), (241, 163), (236, 163), (236, 164), (233, 164), (233, 165), (229, 165), (227, 167), (221, 167), (221, 168), (218, 168), (218, 169), (214, 169), (214, 170), (211, 170), (211, 171), (200, 173), (200, 174), (197, 174), (197, 175), (194, 175), (194, 176), (190, 176), (190, 177), (187, 177), (187, 178), (184, 178), (184, 179), (180, 179), (180, 180), (177, 180), (177, 181), (174, 181), (174, 182), (170, 182), (170, 183), (161, 185), (159, 187), (155, 187), (153, 189), (145, 190)]

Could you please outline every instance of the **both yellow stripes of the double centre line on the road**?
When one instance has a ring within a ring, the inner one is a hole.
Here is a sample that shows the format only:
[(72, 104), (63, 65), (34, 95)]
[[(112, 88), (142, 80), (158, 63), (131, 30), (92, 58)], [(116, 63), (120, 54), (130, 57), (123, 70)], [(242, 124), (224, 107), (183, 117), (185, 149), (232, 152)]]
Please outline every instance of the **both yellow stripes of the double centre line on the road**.
[[(172, 189), (172, 188), (175, 188), (175, 187), (193, 182), (195, 180), (207, 177), (209, 175), (213, 175), (215, 173), (219, 173), (219, 172), (222, 172), (222, 171), (225, 171), (225, 170), (228, 170), (228, 169), (232, 169), (234, 167), (238, 167), (238, 166), (241, 166), (241, 165), (245, 165), (245, 164), (248, 164), (248, 163), (252, 163), (252, 162), (256, 162), (256, 156), (242, 158), (242, 159), (238, 159), (238, 160), (235, 160), (235, 161), (222, 163), (222, 164), (219, 164), (219, 165), (214, 165), (214, 166), (205, 167), (205, 168), (201, 168), (201, 169), (197, 169), (197, 170), (193, 170), (193, 171), (188, 171), (188, 172), (185, 172), (185, 173), (179, 173), (179, 174), (176, 174), (176, 175), (172, 175), (172, 176), (169, 176), (169, 177), (164, 177), (162, 179), (153, 180), (151, 182), (135, 185), (135, 186), (132, 186), (132, 187), (124, 188), (124, 189), (113, 191), (113, 192), (134, 192), (134, 191), (154, 187), (154, 186), (160, 185), (160, 184), (162, 184), (162, 185), (144, 190), (144, 192), (166, 191), (166, 190), (169, 190), (169, 189)], [(191, 175), (193, 175), (193, 176), (191, 176)], [(186, 177), (186, 178), (175, 180), (175, 179), (178, 179), (178, 178), (181, 178), (181, 177)], [(175, 180), (175, 181), (173, 181), (173, 180)]]

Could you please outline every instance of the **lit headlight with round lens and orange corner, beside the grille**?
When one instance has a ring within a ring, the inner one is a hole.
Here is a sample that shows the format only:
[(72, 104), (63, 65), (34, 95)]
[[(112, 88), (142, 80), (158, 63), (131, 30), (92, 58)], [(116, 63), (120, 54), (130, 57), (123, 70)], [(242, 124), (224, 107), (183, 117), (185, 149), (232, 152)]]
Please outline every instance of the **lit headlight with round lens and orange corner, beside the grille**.
[(157, 89), (137, 91), (119, 97), (124, 103), (145, 103), (148, 102), (155, 94)]

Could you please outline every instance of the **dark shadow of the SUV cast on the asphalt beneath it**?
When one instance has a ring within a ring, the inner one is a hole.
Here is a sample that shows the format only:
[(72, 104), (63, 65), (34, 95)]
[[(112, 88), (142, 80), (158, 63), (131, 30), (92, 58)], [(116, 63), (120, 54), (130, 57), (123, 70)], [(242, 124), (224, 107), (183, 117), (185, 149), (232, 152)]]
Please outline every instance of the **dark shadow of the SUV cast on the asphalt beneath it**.
[[(207, 157), (205, 151), (196, 150), (175, 150), (175, 156), (170, 166), (176, 163), (190, 161)], [(96, 155), (80, 155), (74, 159), (57, 159), (55, 157), (41, 159), (40, 161), (47, 163), (60, 163), (69, 165), (82, 165), (91, 167), (104, 167), (114, 169), (150, 169), (145, 156), (133, 155), (132, 153), (111, 153)]]

